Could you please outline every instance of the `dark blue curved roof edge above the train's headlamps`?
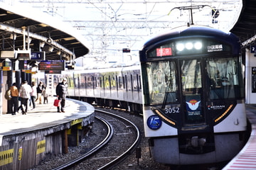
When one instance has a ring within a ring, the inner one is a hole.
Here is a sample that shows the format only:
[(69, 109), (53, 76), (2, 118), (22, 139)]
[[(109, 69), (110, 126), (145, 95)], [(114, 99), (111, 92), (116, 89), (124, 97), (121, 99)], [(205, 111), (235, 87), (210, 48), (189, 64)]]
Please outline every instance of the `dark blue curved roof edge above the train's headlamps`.
[(228, 42), (229, 44), (238, 43), (240, 45), (239, 38), (230, 32), (223, 32), (222, 30), (218, 30), (215, 28), (210, 28), (206, 26), (189, 26), (189, 27), (178, 27), (172, 30), (169, 30), (166, 33), (162, 33), (161, 35), (156, 35), (156, 37), (148, 40), (144, 47), (149, 47), (151, 45), (155, 45), (156, 43), (162, 42), (164, 40), (170, 40), (173, 38), (186, 38), (193, 36), (201, 36), (201, 37), (213, 37), (218, 38), (223, 41)]

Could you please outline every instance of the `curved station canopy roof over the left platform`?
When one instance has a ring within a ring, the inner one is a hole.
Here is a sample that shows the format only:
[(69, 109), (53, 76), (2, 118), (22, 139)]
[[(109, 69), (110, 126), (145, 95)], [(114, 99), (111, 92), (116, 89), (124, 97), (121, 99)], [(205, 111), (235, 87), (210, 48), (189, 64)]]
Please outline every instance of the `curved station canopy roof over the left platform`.
[(0, 35), (0, 50), (28, 50), (29, 38), (31, 51), (46, 51), (46, 60), (70, 61), (89, 52), (72, 26), (24, 6), (0, 3)]

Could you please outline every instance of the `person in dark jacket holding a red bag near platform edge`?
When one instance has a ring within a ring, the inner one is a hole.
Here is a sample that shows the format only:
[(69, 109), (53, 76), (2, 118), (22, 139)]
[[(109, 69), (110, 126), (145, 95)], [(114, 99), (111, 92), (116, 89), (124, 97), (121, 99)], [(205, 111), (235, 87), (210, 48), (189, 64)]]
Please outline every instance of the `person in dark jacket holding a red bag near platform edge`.
[(56, 94), (57, 94), (57, 98), (59, 100), (61, 100), (61, 102), (60, 102), (60, 107), (61, 108), (58, 106), (57, 107), (57, 112), (58, 113), (60, 113), (60, 112), (65, 113), (65, 111), (64, 111), (65, 98), (68, 94), (68, 84), (67, 84), (67, 79), (66, 78), (64, 78), (63, 81), (56, 86)]

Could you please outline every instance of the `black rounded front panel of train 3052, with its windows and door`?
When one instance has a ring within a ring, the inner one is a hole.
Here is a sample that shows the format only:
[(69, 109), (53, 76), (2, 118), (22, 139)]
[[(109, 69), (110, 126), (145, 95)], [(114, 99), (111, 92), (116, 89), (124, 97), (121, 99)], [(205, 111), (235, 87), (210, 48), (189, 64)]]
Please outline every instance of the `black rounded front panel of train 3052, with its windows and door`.
[(241, 57), (213, 40), (205, 42), (204, 50), (184, 53), (174, 50), (175, 45), (167, 42), (146, 52), (144, 106), (171, 125), (177, 119), (183, 119), (182, 127), (218, 123), (245, 97)]

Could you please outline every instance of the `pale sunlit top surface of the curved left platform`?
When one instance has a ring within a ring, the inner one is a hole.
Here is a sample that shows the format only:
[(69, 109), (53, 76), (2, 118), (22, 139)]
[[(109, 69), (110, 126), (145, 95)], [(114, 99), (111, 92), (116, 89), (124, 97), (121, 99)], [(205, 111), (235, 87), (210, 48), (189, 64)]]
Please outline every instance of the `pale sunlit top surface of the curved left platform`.
[(29, 108), (26, 115), (22, 115), (21, 111), (17, 115), (0, 115), (0, 137), (39, 128), (48, 128), (49, 126), (66, 123), (70, 119), (84, 118), (94, 110), (90, 105), (82, 106), (78, 101), (67, 99), (65, 113), (58, 113), (57, 107), (53, 106), (54, 99), (54, 97), (49, 97), (48, 104), (36, 102), (36, 108), (32, 110)]

